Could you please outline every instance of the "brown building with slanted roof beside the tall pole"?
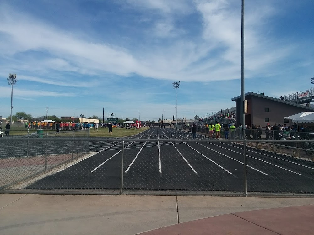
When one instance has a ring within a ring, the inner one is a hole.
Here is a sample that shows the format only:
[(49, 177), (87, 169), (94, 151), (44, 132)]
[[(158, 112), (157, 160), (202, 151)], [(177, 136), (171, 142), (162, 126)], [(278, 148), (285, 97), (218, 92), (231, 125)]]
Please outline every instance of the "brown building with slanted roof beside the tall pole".
[[(240, 123), (240, 96), (231, 99), (236, 102), (236, 121)], [(300, 112), (314, 111), (314, 108), (293, 102), (272, 98), (262, 94), (248, 92), (245, 94), (245, 123), (246, 125), (261, 125), (267, 123), (284, 123), (284, 117)]]

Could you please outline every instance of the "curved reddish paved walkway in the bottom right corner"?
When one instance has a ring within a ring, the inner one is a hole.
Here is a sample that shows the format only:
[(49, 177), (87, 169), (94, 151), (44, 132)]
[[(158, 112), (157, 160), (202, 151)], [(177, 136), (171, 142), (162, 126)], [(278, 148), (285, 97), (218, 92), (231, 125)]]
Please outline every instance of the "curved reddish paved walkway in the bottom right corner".
[(311, 235), (314, 205), (239, 212), (185, 222), (141, 235)]

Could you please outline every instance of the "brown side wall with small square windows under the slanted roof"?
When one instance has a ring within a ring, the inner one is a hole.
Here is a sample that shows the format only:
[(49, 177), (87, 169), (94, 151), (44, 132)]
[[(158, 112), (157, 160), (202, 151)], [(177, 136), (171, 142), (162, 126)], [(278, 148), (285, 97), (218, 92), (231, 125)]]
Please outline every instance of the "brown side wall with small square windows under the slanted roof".
[[(296, 107), (293, 105), (264, 99), (261, 97), (251, 97), (251, 124), (261, 125), (265, 127), (267, 122), (265, 118), (269, 118), (269, 123), (284, 123), (284, 117), (294, 115), (300, 112), (309, 111), (306, 107)], [(265, 108), (269, 108), (269, 112), (265, 112)]]

